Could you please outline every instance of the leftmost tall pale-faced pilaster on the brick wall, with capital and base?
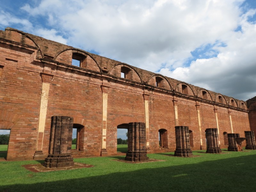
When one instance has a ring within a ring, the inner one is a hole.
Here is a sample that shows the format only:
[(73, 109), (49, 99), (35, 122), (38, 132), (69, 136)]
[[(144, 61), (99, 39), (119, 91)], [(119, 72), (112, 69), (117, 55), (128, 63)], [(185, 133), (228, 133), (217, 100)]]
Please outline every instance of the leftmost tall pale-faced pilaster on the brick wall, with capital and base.
[(42, 151), (43, 141), (44, 141), (44, 127), (45, 127), (46, 112), (47, 112), (47, 105), (48, 105), (48, 94), (49, 94), (50, 83), (52, 81), (53, 75), (41, 73), (41, 77), (42, 77), (43, 83), (42, 83), (36, 152), (33, 156), (34, 159), (44, 158), (44, 154)]

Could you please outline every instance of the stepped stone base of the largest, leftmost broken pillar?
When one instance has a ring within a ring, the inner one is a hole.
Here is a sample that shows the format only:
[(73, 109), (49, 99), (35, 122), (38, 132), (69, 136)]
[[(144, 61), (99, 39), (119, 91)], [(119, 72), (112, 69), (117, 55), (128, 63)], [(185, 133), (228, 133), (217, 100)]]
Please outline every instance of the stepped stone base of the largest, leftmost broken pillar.
[(71, 153), (61, 155), (49, 154), (44, 159), (44, 166), (47, 168), (73, 167), (73, 156)]

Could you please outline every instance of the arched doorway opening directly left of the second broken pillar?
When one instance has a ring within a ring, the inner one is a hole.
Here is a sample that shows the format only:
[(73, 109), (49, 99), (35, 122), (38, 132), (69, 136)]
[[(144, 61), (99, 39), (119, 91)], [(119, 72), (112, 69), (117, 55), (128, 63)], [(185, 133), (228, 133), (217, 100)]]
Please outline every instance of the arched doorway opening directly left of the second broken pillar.
[(128, 129), (128, 123), (117, 125), (117, 152), (126, 153), (128, 151)]

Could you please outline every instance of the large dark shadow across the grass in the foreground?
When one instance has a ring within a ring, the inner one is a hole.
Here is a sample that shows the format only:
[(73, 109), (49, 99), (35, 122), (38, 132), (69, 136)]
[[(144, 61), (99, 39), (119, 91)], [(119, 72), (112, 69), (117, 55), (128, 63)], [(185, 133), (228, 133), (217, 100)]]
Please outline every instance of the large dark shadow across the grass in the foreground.
[(87, 176), (84, 170), (82, 178), (10, 184), (1, 186), (0, 191), (255, 191), (255, 158), (248, 155), (136, 171), (124, 169), (99, 176)]

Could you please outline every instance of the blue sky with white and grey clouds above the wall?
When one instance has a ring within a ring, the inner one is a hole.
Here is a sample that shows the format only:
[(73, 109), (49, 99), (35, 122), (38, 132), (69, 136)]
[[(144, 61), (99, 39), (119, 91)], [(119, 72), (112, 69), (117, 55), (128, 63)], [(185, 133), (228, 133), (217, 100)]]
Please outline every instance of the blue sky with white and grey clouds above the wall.
[(235, 99), (256, 96), (255, 0), (0, 2), (0, 30), (16, 28)]

